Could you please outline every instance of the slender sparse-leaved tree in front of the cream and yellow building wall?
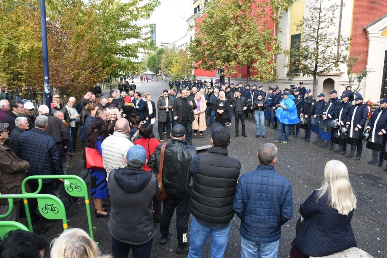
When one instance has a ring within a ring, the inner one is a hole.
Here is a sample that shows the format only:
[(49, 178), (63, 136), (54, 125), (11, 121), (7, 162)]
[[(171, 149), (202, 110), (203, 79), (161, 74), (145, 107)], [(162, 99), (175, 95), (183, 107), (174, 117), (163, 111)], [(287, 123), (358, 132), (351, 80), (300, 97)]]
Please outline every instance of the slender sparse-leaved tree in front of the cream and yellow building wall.
[(286, 51), (289, 58), (288, 76), (292, 80), (295, 74), (313, 76), (313, 92), (317, 90), (317, 76), (337, 69), (348, 62), (348, 50), (351, 37), (337, 34), (336, 13), (340, 5), (323, 5), (327, 0), (311, 1), (308, 16), (297, 22), (296, 29), (301, 32), (301, 40)]

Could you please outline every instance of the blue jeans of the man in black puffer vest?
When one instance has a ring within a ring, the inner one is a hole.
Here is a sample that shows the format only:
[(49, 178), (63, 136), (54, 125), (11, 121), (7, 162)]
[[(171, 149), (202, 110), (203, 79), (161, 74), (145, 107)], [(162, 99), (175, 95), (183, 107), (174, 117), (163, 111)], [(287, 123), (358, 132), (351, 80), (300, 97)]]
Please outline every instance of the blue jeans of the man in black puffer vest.
[(210, 229), (203, 227), (192, 216), (190, 232), (190, 251), (187, 258), (200, 258), (203, 255), (205, 241), (211, 234), (211, 258), (221, 258), (226, 250), (231, 221), (225, 229)]

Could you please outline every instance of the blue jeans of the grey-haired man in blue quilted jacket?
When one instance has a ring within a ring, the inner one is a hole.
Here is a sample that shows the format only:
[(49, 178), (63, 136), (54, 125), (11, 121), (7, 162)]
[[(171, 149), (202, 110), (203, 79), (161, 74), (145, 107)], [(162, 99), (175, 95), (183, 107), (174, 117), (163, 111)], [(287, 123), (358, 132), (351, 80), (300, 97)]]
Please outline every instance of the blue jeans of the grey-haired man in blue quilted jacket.
[(241, 236), (242, 258), (258, 257), (277, 258), (279, 239), (272, 243), (256, 243)]

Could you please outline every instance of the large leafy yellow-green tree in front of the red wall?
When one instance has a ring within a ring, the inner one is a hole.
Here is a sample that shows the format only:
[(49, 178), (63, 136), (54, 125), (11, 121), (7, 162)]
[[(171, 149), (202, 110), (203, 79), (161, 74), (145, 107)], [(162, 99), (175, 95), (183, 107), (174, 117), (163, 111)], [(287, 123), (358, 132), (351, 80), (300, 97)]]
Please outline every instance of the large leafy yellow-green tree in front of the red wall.
[(246, 67), (247, 81), (275, 81), (278, 74), (273, 57), (281, 53), (281, 44), (273, 28), (281, 33), (279, 21), (290, 4), (291, 0), (206, 3), (206, 15), (195, 22), (195, 39), (189, 46), (196, 67), (207, 71), (223, 68), (224, 74), (238, 77)]

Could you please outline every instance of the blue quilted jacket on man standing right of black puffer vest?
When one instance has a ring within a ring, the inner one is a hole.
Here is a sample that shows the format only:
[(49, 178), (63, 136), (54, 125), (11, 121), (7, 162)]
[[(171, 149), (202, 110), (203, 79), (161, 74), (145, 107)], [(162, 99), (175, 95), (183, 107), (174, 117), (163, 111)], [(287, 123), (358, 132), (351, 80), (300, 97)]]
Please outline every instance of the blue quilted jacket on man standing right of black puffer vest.
[(291, 184), (271, 165), (259, 165), (242, 175), (233, 203), (241, 219), (240, 234), (257, 243), (271, 243), (281, 237), (281, 225), (293, 217)]

